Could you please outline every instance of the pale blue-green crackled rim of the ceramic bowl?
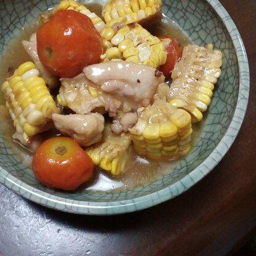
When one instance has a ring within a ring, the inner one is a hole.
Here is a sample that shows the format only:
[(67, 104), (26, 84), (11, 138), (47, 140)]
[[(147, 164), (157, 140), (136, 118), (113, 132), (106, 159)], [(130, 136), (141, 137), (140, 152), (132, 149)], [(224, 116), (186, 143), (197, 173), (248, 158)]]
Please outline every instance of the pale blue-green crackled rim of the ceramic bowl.
[[(78, 201), (73, 199), (65, 199), (60, 196), (54, 196), (18, 180), (18, 178), (9, 174), (9, 172), (4, 170), (1, 166), (0, 183), (5, 185), (7, 188), (10, 188), (10, 190), (14, 191), (15, 193), (20, 194), (24, 198), (29, 199), (30, 201), (55, 210), (61, 210), (63, 212), (70, 212), (73, 214), (114, 215), (146, 209), (172, 199), (188, 190), (195, 183), (199, 182), (202, 177), (209, 174), (209, 172), (214, 169), (214, 167), (218, 164), (218, 162), (220, 162), (220, 160), (229, 150), (230, 146), (234, 142), (234, 139), (238, 135), (239, 129), (241, 128), (249, 99), (250, 77), (246, 49), (236, 25), (218, 0), (205, 1), (214, 8), (217, 15), (222, 19), (223, 24), (226, 26), (226, 30), (228, 30), (228, 33), (230, 33), (234, 48), (236, 49), (239, 66), (239, 92), (236, 109), (234, 110), (230, 126), (223, 135), (220, 143), (218, 143), (212, 153), (210, 153), (210, 155), (201, 164), (199, 164), (198, 167), (192, 170), (189, 174), (185, 175), (185, 177), (183, 177), (181, 180), (178, 180), (174, 184), (167, 186), (160, 191), (134, 199), (113, 202)], [(214, 162), (214, 164), (212, 164), (212, 162)], [(173, 191), (176, 191), (176, 193), (174, 194)]]

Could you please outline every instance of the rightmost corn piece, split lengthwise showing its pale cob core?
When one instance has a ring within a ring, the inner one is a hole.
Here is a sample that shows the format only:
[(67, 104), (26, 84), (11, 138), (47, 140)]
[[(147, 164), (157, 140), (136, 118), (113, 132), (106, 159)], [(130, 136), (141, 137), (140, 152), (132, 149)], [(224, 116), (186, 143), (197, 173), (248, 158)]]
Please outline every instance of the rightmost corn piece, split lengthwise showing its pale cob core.
[(222, 52), (214, 50), (212, 44), (207, 48), (185, 46), (182, 58), (172, 71), (167, 101), (188, 111), (193, 122), (201, 121), (202, 112), (210, 104), (214, 84), (220, 77), (221, 65)]

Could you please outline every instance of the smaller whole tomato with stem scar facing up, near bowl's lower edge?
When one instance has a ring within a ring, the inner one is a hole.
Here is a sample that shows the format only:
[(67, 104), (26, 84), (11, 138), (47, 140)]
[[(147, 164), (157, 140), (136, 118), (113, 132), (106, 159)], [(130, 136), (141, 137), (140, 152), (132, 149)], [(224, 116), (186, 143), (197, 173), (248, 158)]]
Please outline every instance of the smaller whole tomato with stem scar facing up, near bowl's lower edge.
[(70, 137), (53, 137), (43, 142), (32, 159), (32, 169), (43, 185), (75, 190), (93, 176), (90, 156)]

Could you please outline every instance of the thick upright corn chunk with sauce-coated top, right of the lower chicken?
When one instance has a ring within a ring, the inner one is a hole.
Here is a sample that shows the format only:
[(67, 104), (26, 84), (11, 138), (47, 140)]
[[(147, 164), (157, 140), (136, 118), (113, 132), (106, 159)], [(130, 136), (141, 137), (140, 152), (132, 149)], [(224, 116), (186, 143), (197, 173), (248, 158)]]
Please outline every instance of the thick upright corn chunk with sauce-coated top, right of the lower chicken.
[(152, 159), (175, 159), (190, 151), (191, 116), (164, 100), (138, 110), (138, 122), (129, 129), (138, 154)]

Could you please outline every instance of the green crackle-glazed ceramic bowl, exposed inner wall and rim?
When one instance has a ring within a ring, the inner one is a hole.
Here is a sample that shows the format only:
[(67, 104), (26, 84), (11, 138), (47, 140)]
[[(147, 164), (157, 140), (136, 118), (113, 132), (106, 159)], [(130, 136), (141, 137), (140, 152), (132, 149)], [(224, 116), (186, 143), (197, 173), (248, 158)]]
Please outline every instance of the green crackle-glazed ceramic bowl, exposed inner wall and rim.
[[(0, 51), (10, 39), (42, 11), (58, 1), (1, 1)], [(102, 2), (102, 1), (98, 1)], [(178, 196), (207, 175), (233, 143), (241, 127), (249, 96), (249, 68), (241, 37), (217, 0), (166, 0), (164, 14), (177, 23), (195, 43), (213, 42), (223, 52), (222, 76), (204, 114), (196, 144), (175, 169), (159, 180), (134, 190), (62, 193), (38, 184), (0, 134), (0, 182), (43, 206), (78, 214), (108, 215), (133, 212)], [(2, 55), (2, 54), (1, 54)]]

